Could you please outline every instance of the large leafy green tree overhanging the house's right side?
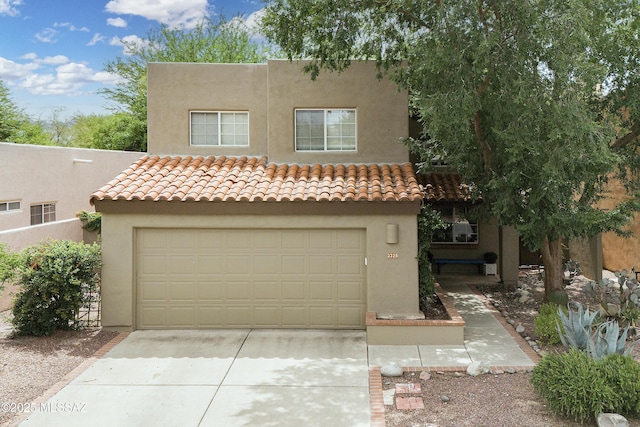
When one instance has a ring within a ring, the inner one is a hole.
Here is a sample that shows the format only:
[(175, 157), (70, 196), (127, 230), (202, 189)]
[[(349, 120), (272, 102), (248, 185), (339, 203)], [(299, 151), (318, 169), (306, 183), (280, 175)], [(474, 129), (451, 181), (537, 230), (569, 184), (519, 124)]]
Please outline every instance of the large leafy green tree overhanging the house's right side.
[[(638, 210), (637, 1), (274, 0), (263, 27), (312, 78), (373, 59), (407, 89), (424, 129), (409, 144), (541, 250), (547, 295), (563, 239), (622, 232)], [(616, 174), (630, 199), (599, 209)]]

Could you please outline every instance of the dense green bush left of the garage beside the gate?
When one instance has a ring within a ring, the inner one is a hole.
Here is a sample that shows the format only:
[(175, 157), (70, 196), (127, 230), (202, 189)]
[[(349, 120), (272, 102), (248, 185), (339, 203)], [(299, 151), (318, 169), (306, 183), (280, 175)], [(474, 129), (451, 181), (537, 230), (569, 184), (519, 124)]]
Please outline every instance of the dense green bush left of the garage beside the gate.
[(87, 293), (98, 286), (100, 247), (50, 240), (26, 248), (21, 259), (21, 290), (13, 305), (16, 333), (41, 336), (75, 328)]

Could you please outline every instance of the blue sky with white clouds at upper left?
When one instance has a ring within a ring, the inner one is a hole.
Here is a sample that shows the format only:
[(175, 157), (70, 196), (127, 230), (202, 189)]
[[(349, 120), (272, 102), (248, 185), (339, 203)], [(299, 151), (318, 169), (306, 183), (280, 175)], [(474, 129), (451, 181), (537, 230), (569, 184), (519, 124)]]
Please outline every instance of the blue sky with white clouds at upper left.
[(125, 56), (160, 24), (189, 28), (203, 16), (242, 16), (249, 25), (260, 0), (0, 0), (0, 80), (34, 119), (105, 114), (97, 93), (113, 85), (106, 61)]

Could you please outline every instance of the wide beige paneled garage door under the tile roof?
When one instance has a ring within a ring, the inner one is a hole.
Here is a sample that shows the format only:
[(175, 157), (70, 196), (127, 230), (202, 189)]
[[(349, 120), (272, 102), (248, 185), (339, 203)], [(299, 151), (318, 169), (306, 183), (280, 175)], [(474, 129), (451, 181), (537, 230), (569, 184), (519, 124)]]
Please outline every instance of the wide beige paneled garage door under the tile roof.
[(364, 328), (364, 230), (138, 229), (136, 328)]

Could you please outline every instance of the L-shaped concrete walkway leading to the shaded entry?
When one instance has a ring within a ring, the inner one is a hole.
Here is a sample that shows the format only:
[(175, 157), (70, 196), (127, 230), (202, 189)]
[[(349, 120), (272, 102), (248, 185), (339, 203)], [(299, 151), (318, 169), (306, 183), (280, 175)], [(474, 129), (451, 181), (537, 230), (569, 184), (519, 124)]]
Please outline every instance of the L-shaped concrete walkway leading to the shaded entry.
[(464, 345), (370, 345), (370, 366), (396, 364), (430, 370), (461, 369), (472, 362), (503, 370), (535, 366), (532, 360), (537, 359), (535, 352), (522, 338), (510, 333), (498, 320), (499, 316), (494, 315), (494, 310), (487, 307), (463, 280), (439, 279), (439, 283), (465, 321)]

